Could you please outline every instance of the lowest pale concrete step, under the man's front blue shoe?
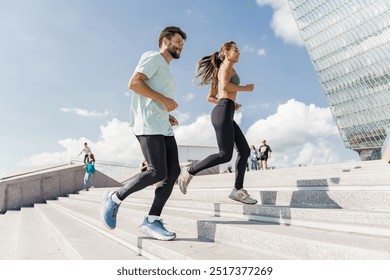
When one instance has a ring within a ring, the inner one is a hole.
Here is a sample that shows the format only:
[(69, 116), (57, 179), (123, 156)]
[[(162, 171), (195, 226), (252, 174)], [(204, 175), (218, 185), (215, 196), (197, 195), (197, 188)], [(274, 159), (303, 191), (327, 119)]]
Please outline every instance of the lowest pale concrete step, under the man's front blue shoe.
[[(139, 232), (138, 226), (142, 223), (145, 210), (125, 209), (118, 213), (117, 228), (107, 230), (100, 221), (98, 204), (89, 202), (83, 205), (61, 200), (49, 203), (50, 206), (63, 211), (75, 219), (84, 221), (92, 227), (100, 227), (107, 236), (128, 246), (137, 247), (139, 254), (149, 259), (284, 259), (280, 255), (263, 250), (243, 250), (234, 244), (226, 246), (219, 242), (210, 242), (200, 238), (196, 233), (183, 232), (182, 228), (175, 229), (177, 238), (174, 242), (164, 242), (152, 239)], [(168, 224), (172, 218), (167, 219)], [(165, 222), (165, 220), (164, 220)]]

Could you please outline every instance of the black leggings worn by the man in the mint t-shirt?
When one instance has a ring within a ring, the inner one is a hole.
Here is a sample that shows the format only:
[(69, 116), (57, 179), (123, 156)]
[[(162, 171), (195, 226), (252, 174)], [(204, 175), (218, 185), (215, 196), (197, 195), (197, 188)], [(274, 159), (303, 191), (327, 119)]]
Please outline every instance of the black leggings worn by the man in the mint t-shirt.
[(142, 153), (148, 162), (148, 169), (135, 175), (118, 190), (117, 196), (124, 200), (132, 193), (164, 180), (162, 187), (156, 188), (149, 215), (160, 216), (172, 193), (173, 185), (180, 174), (179, 156), (174, 136), (137, 136)]

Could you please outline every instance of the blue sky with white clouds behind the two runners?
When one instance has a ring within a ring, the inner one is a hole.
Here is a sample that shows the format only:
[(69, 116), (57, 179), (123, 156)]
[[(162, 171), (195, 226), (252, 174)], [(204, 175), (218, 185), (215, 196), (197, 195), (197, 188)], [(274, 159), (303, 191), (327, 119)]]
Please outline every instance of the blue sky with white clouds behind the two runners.
[(200, 57), (233, 40), (241, 82), (255, 84), (236, 120), (250, 144), (268, 140), (271, 165), (358, 160), (289, 13), (286, 0), (0, 0), (0, 173), (66, 162), (85, 141), (98, 159), (138, 162), (127, 83), (169, 25), (188, 36), (170, 64), (179, 145), (216, 145), (208, 89), (192, 79)]

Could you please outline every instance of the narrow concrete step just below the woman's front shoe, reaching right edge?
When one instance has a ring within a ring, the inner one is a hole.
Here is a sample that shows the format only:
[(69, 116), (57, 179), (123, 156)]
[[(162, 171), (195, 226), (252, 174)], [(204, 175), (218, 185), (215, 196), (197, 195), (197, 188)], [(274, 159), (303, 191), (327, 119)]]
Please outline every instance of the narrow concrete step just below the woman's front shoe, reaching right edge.
[[(79, 203), (79, 200), (99, 203), (101, 196), (93, 193), (75, 195), (71, 196), (72, 200), (75, 200), (75, 203)], [(151, 205), (151, 199), (149, 198), (130, 196), (125, 202), (145, 207)], [(188, 200), (183, 204), (182, 200), (174, 199), (168, 200), (165, 209), (390, 237), (390, 211), (294, 208), (276, 205), (242, 205), (236, 202), (211, 203)]]

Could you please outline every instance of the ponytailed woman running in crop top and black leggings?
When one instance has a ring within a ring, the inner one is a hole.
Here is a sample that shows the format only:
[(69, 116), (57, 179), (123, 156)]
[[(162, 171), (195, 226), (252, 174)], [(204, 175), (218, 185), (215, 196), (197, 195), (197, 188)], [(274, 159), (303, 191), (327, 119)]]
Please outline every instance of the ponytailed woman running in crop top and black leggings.
[(182, 193), (187, 193), (187, 187), (192, 177), (198, 172), (212, 166), (229, 162), (236, 146), (236, 179), (229, 198), (246, 203), (255, 204), (257, 200), (250, 197), (244, 190), (244, 175), (248, 164), (250, 149), (240, 127), (234, 121), (234, 113), (240, 108), (236, 103), (237, 92), (252, 92), (253, 84), (240, 86), (240, 78), (233, 68), (238, 62), (240, 51), (233, 41), (224, 43), (219, 51), (205, 56), (198, 62), (195, 78), (201, 78), (200, 85), (211, 84), (208, 101), (217, 104), (211, 113), (211, 122), (214, 126), (219, 153), (212, 154), (194, 166), (182, 167), (179, 176), (179, 187)]

